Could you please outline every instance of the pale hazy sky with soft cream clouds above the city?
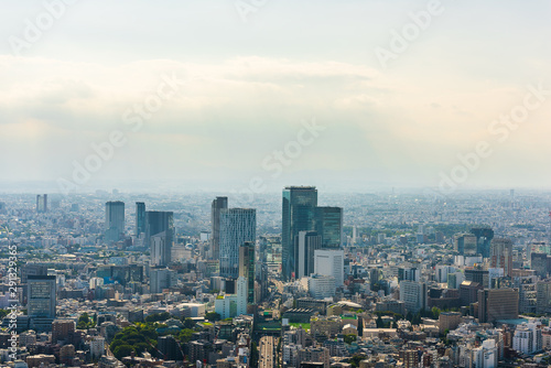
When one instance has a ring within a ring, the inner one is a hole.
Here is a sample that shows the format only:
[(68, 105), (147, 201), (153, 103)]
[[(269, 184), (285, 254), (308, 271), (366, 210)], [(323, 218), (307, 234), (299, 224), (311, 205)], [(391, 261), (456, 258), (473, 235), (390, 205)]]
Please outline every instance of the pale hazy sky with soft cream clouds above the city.
[(549, 1), (2, 7), (0, 190), (551, 186)]

